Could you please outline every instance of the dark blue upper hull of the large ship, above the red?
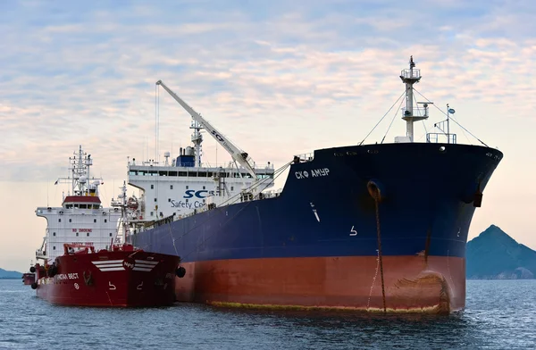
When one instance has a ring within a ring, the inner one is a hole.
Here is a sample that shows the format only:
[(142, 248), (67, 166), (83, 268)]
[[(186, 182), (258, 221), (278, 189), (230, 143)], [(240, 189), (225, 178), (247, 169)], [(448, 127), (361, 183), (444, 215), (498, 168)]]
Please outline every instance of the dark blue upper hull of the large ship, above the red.
[[(501, 158), (496, 149), (445, 144), (317, 150), (312, 162), (291, 165), (281, 196), (155, 225), (134, 244), (183, 262), (375, 257), (379, 228), (383, 256), (465, 263), (474, 199)], [(371, 183), (381, 190), (378, 212)]]

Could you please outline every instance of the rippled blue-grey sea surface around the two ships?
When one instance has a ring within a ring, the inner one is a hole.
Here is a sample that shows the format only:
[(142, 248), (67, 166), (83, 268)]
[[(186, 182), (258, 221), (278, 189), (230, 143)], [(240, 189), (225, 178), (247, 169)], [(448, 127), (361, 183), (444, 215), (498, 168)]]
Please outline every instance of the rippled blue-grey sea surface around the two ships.
[(384, 316), (63, 307), (38, 299), (20, 279), (0, 279), (0, 348), (536, 349), (536, 280), (470, 280), (464, 312)]

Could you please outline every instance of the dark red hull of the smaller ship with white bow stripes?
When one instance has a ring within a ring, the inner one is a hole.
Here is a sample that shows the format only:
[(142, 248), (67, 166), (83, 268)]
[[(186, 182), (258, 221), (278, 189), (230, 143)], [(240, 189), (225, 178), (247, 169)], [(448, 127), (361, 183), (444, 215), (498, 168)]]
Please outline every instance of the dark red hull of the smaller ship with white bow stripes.
[[(144, 251), (63, 255), (53, 277), (38, 279), (37, 296), (62, 305), (170, 305), (179, 262), (178, 256)], [(40, 275), (45, 272), (37, 268)]]

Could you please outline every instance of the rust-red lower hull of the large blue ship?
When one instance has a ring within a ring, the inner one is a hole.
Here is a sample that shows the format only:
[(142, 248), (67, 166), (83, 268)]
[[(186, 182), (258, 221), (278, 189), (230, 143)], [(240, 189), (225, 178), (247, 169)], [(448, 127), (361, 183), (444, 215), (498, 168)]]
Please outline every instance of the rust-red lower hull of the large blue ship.
[[(183, 263), (178, 301), (264, 307), (448, 313), (465, 307), (465, 259), (385, 256)], [(385, 295), (385, 303), (384, 297)]]

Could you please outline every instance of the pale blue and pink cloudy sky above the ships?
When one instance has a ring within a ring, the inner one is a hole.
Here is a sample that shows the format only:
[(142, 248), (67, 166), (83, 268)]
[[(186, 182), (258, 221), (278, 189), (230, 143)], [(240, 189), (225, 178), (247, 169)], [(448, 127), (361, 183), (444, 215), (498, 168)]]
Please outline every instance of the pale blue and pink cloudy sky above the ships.
[[(0, 267), (28, 270), (46, 229), (35, 209), (61, 205), (54, 181), (79, 145), (105, 204), (127, 157), (189, 146), (188, 113), (156, 80), (278, 168), (361, 142), (403, 93), (410, 55), (416, 90), (438, 107), (428, 131), (449, 104), (504, 153), (469, 237), (495, 224), (536, 249), (535, 16), (532, 0), (0, 0)], [(366, 142), (405, 135), (397, 108)], [(451, 125), (459, 143), (479, 144)], [(208, 135), (203, 145), (206, 162), (230, 160)]]

